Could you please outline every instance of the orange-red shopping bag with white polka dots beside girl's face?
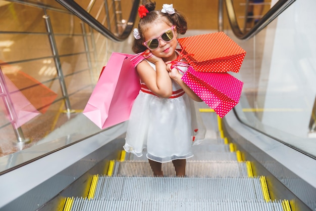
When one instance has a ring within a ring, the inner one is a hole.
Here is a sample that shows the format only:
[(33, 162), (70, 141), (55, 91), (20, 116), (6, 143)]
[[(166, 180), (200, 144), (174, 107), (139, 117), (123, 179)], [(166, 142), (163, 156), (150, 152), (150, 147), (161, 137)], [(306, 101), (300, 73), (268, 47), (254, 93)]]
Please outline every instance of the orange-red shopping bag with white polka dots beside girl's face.
[(200, 72), (239, 72), (246, 52), (224, 32), (179, 38), (189, 64)]

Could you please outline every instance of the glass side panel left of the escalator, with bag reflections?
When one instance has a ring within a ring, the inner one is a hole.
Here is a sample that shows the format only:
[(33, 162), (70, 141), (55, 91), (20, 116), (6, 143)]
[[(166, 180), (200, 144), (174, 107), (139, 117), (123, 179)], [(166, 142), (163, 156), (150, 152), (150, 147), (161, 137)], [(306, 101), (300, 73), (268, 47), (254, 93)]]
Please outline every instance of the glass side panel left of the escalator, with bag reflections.
[[(132, 4), (95, 1), (91, 11), (117, 33)], [(101, 131), (82, 111), (112, 52), (131, 53), (132, 35), (111, 41), (56, 1), (0, 1), (0, 20), (7, 23), (0, 25), (0, 67), (8, 89), (0, 93), (1, 174)]]

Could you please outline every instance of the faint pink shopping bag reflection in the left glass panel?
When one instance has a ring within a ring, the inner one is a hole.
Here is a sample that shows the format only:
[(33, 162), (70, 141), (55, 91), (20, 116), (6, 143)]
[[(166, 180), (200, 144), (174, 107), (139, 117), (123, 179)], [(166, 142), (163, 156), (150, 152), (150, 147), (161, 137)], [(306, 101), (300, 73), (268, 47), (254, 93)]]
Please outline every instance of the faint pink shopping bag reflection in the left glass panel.
[(0, 68), (0, 107), (15, 129), (40, 114)]

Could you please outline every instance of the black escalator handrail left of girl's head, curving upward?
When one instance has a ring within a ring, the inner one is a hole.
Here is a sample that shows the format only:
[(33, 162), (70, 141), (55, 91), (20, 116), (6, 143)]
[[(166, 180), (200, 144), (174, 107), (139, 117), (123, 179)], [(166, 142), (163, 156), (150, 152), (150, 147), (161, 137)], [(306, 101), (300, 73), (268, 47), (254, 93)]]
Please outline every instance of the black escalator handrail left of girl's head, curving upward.
[(115, 35), (109, 29), (104, 27), (99, 21), (97, 21), (93, 16), (91, 16), (85, 9), (83, 9), (75, 1), (56, 0), (56, 2), (64, 6), (69, 11), (71, 11), (74, 15), (79, 17), (81, 20), (83, 20), (85, 23), (87, 23), (89, 26), (91, 26), (93, 29), (95, 29), (97, 32), (99, 32), (103, 36), (106, 36), (107, 38), (113, 41), (124, 41), (125, 39), (127, 39), (127, 37), (130, 35), (130, 33), (133, 30), (140, 0), (134, 0), (126, 27), (123, 33), (120, 34), (119, 36)]

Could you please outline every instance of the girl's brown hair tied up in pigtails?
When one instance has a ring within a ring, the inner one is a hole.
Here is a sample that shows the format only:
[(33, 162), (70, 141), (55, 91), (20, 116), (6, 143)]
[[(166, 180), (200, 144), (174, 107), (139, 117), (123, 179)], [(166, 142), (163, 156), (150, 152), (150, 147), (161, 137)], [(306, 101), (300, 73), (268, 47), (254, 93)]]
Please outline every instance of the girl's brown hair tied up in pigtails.
[(134, 53), (140, 53), (143, 51), (146, 51), (147, 48), (143, 45), (144, 43), (144, 32), (151, 27), (152, 23), (156, 21), (163, 21), (166, 24), (171, 26), (175, 26), (177, 33), (185, 34), (187, 31), (187, 21), (183, 15), (181, 15), (177, 10), (175, 10), (175, 13), (170, 15), (168, 13), (163, 13), (158, 10), (154, 10), (156, 3), (155, 2), (149, 2), (144, 4), (146, 9), (149, 11), (146, 16), (140, 19), (138, 23), (138, 32), (140, 35), (140, 39), (134, 39), (132, 50)]

